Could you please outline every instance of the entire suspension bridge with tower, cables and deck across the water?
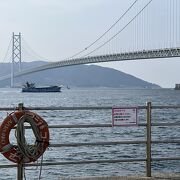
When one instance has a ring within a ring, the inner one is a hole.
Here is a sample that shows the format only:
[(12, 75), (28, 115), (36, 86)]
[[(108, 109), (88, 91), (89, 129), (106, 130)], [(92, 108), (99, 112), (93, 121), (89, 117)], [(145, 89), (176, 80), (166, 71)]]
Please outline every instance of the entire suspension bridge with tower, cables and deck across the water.
[[(12, 36), (11, 74), (0, 80), (47, 69), (99, 62), (148, 60), (180, 57), (180, 2), (178, 0), (135, 0), (129, 8), (102, 33), (74, 55), (32, 69), (22, 69), (21, 34)], [(41, 58), (41, 60), (43, 60)], [(14, 72), (15, 62), (19, 71)]]

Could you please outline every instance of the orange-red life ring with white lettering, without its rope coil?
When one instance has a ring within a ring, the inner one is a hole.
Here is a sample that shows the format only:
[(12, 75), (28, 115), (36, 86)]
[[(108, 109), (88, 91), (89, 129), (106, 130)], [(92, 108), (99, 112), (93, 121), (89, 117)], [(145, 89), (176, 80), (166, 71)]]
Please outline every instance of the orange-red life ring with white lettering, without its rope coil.
[[(40, 133), (41, 138), (41, 148), (37, 149), (36, 155), (31, 158), (24, 158), (22, 153), (20, 153), (18, 146), (10, 144), (9, 135), (10, 131), (18, 123), (18, 121), (23, 117), (27, 116), (31, 118)], [(46, 121), (31, 111), (15, 111), (8, 115), (0, 126), (0, 152), (10, 161), (14, 163), (29, 163), (36, 161), (49, 146), (49, 129)]]

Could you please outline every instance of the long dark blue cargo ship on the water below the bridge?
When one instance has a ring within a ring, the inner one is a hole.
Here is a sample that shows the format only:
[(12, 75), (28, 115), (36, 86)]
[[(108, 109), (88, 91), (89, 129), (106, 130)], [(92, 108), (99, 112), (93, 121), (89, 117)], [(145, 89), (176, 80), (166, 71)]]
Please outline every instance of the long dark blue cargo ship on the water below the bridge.
[(26, 82), (22, 88), (22, 92), (61, 92), (60, 86), (36, 87), (34, 83)]

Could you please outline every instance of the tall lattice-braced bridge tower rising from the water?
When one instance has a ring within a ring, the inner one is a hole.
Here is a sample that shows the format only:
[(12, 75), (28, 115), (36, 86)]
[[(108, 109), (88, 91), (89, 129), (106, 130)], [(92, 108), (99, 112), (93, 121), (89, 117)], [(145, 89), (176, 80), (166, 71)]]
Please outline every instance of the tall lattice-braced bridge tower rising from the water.
[(12, 63), (11, 63), (11, 87), (14, 86), (14, 64), (19, 64), (21, 71), (21, 33), (14, 34), (12, 37)]

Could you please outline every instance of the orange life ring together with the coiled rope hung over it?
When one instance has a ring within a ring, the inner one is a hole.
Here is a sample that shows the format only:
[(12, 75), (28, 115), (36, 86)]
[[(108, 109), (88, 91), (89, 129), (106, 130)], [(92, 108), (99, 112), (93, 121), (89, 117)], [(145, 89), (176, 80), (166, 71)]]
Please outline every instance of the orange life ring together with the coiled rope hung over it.
[[(34, 145), (25, 138), (24, 123), (30, 124), (35, 135)], [(17, 124), (17, 145), (9, 141), (10, 131)], [(46, 121), (31, 111), (15, 111), (8, 115), (0, 126), (0, 152), (14, 163), (36, 161), (49, 145), (49, 129)]]

